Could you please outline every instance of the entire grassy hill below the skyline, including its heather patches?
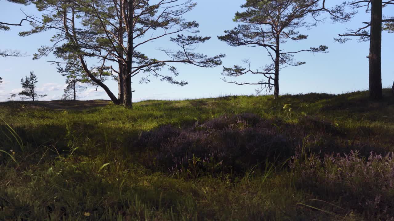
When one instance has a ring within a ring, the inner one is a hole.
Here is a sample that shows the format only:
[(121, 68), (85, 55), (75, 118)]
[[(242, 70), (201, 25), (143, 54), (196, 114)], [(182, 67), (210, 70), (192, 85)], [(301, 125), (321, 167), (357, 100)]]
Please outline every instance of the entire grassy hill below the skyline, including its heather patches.
[(0, 104), (0, 220), (394, 220), (394, 98)]

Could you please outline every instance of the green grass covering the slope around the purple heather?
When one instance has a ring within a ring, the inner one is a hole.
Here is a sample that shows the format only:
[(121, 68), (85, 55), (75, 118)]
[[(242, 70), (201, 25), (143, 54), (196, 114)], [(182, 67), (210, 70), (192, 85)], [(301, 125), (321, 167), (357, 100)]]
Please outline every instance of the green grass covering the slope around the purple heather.
[[(223, 115), (253, 113), (279, 122), (272, 126), (278, 133), (292, 125), (304, 128), (297, 137), (305, 138), (305, 148), (312, 146), (308, 135), (320, 134), (313, 145), (327, 147), (327, 154), (387, 154), (394, 151), (394, 98), (390, 90), (385, 95), (379, 102), (368, 101), (366, 91), (284, 95), (278, 103), (271, 96), (150, 100), (135, 103), (133, 110), (110, 103), (84, 110), (2, 103), (0, 220), (388, 220), (383, 208), (367, 210), (347, 198), (370, 191), (364, 181), (355, 182), (357, 191), (344, 185), (330, 194), (324, 177), (333, 167), (310, 166), (322, 179), (313, 182), (305, 166), (265, 159), (243, 174), (190, 176), (152, 166), (154, 151), (134, 142), (162, 125), (183, 130)], [(305, 116), (338, 133), (304, 123)], [(312, 152), (305, 162), (314, 162), (308, 159)]]

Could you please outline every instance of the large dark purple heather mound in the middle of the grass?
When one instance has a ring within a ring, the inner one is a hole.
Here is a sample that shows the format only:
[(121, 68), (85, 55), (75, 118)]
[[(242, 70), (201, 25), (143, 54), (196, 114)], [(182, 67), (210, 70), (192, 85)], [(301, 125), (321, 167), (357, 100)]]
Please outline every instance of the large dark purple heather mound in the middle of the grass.
[(294, 140), (283, 136), (271, 120), (246, 113), (196, 122), (182, 130), (165, 125), (143, 132), (136, 145), (155, 152), (152, 162), (173, 172), (243, 173), (267, 160), (290, 157)]

